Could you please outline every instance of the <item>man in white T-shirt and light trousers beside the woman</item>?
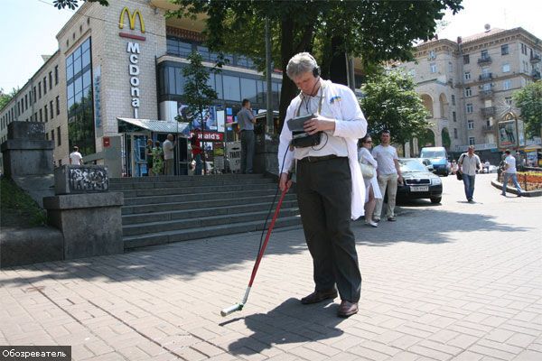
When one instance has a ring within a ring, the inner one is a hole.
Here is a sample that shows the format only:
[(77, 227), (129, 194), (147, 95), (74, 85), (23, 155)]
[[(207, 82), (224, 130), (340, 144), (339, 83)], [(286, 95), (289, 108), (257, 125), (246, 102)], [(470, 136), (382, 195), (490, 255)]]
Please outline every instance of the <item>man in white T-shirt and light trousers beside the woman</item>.
[[(397, 157), (397, 149), (389, 145), (391, 143), (391, 135), (388, 130), (380, 134), (380, 144), (374, 147), (372, 156), (378, 162), (378, 187), (382, 194), (381, 199), (377, 199), (377, 208), (375, 210), (374, 220), (380, 221), (382, 214), (382, 205), (384, 203), (384, 195), (388, 190), (388, 209), (386, 217), (388, 221), (393, 222), (395, 218), (395, 205), (397, 197), (397, 182), (403, 183), (401, 175), (401, 167)], [(370, 220), (370, 219), (369, 219)]]

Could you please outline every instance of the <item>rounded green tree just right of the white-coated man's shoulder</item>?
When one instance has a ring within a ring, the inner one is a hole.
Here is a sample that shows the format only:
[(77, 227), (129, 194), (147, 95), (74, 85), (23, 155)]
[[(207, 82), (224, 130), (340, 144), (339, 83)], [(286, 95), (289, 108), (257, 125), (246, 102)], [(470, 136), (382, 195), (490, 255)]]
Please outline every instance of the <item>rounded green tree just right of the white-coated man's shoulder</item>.
[(360, 106), (370, 133), (388, 129), (394, 141), (401, 144), (426, 134), (429, 112), (416, 94), (410, 76), (398, 70), (376, 74), (369, 77), (362, 91)]

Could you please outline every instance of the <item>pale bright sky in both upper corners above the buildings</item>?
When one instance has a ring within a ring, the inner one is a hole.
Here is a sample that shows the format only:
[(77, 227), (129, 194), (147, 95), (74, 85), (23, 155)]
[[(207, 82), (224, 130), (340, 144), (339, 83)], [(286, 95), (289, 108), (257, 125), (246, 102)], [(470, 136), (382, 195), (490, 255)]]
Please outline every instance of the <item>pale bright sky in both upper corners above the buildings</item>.
[[(118, 0), (114, 0), (118, 1)], [(539, 0), (463, 0), (458, 14), (447, 12), (446, 26), (439, 39), (455, 41), (458, 36), (492, 28), (522, 27), (542, 39)], [(23, 87), (42, 66), (42, 54), (58, 50), (56, 34), (74, 14), (58, 10), (52, 0), (2, 0), (0, 12), (0, 88), (5, 92)]]

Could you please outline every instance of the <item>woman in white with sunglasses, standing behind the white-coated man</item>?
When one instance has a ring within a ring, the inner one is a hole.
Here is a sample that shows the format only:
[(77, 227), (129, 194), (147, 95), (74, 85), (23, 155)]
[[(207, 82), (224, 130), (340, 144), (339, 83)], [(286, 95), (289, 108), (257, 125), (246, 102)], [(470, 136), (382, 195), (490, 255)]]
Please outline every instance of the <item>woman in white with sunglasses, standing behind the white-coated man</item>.
[(372, 178), (363, 177), (365, 182), (365, 224), (370, 227), (378, 227), (378, 223), (373, 221), (373, 212), (377, 204), (377, 199), (382, 199), (382, 193), (380, 193), (380, 187), (377, 180), (378, 162), (373, 158), (370, 153), (372, 148), (372, 139), (370, 135), (365, 135), (360, 139), (360, 152), (358, 153), (358, 162), (361, 164), (370, 165), (373, 167), (374, 172)]

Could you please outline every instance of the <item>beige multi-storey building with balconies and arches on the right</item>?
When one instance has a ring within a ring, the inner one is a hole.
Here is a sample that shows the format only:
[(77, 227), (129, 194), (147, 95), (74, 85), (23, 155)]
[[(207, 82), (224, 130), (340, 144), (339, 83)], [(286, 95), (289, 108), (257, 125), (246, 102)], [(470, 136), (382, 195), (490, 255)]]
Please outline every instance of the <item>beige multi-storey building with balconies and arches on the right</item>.
[(432, 129), (424, 142), (452, 153), (471, 144), (482, 153), (499, 153), (514, 142), (519, 147), (541, 143), (538, 137), (524, 139), (521, 122), (511, 138), (500, 126), (510, 114), (520, 119), (512, 94), (540, 79), (541, 53), (540, 39), (524, 29), (488, 25), (485, 32), (456, 42), (435, 39), (416, 46), (416, 60), (398, 67), (414, 77), (431, 113)]

